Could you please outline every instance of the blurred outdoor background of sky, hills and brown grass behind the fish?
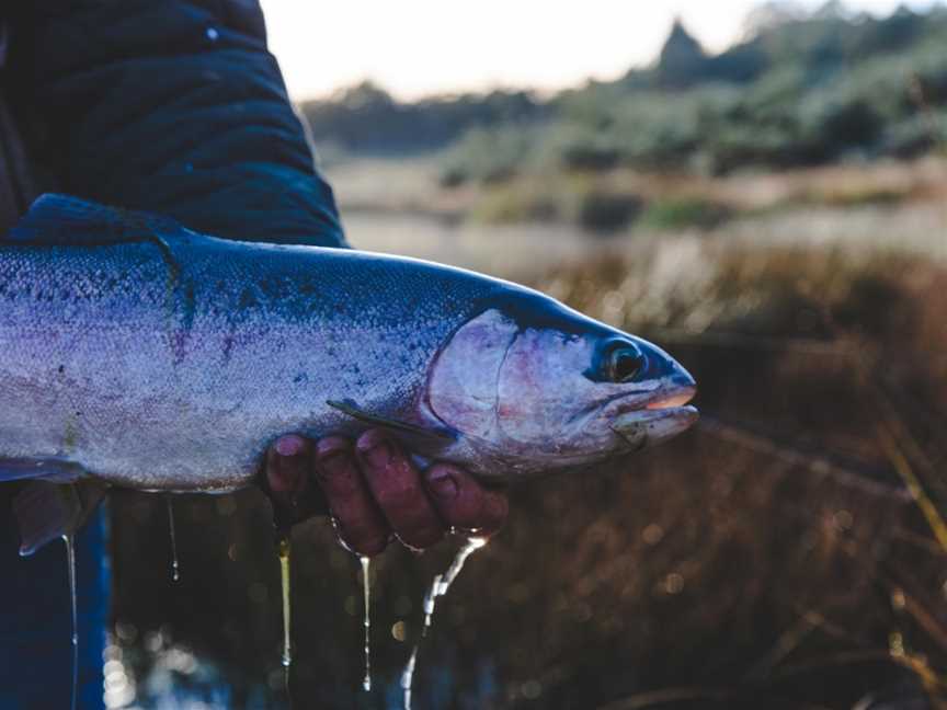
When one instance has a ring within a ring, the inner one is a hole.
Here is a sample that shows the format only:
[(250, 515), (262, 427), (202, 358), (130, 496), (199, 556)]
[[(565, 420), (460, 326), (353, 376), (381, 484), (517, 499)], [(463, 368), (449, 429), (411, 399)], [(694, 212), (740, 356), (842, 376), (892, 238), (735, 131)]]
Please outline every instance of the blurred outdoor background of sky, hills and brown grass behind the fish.
[[(351, 243), (666, 347), (698, 426), (512, 491), (414, 707), (947, 707), (947, 8), (267, 0)], [(343, 7), (344, 5), (344, 7)], [(512, 7), (511, 7), (512, 5)], [(256, 491), (112, 501), (112, 708), (288, 708)], [(432, 576), (294, 531), (293, 706), (400, 708)]]

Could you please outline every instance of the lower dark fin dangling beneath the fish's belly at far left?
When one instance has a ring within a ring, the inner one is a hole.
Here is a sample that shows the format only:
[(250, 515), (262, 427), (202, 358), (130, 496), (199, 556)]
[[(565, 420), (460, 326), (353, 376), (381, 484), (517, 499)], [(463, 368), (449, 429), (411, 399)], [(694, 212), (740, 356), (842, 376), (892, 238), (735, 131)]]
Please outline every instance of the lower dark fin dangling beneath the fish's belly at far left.
[(28, 557), (47, 542), (78, 530), (105, 495), (99, 481), (50, 483), (31, 481), (13, 499), (20, 528), (20, 556)]

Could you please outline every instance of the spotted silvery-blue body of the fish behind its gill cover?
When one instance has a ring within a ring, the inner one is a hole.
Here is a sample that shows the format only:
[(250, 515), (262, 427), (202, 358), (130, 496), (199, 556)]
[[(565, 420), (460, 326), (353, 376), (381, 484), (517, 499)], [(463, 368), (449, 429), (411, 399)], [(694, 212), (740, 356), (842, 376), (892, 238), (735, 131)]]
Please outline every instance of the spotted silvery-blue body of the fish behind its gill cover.
[[(331, 401), (440, 426), (432, 363), (491, 308), (618, 333), (458, 268), (227, 241), (46, 195), (0, 245), (0, 480), (32, 462), (36, 478), (232, 490), (282, 434), (366, 428)], [(486, 474), (486, 450), (441, 453)]]

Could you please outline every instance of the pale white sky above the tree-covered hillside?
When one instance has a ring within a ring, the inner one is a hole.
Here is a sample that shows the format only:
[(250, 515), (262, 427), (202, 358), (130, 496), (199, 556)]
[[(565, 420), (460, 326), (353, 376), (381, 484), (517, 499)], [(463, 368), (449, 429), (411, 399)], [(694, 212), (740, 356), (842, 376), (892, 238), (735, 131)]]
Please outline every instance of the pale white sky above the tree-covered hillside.
[[(820, 7), (824, 0), (797, 5)], [(849, 0), (889, 13), (901, 0)], [(262, 0), (294, 100), (370, 79), (401, 99), (493, 88), (555, 90), (653, 60), (675, 15), (710, 50), (754, 0)], [(909, 0), (925, 8), (929, 0)]]

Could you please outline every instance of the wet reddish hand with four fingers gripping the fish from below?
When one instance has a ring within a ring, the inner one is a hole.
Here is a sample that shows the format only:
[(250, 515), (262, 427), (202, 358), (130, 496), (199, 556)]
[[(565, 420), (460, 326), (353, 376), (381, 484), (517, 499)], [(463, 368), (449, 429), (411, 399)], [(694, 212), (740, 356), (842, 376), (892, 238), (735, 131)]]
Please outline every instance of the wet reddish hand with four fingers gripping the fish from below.
[(377, 428), (354, 445), (340, 436), (283, 436), (266, 453), (264, 479), (277, 515), (298, 523), (328, 507), (342, 543), (366, 557), (381, 552), (392, 534), (419, 550), (454, 528), (488, 537), (507, 514), (502, 492), (450, 463), (419, 471)]

